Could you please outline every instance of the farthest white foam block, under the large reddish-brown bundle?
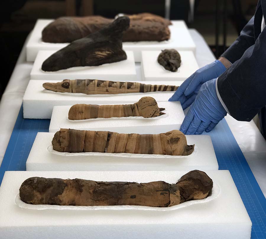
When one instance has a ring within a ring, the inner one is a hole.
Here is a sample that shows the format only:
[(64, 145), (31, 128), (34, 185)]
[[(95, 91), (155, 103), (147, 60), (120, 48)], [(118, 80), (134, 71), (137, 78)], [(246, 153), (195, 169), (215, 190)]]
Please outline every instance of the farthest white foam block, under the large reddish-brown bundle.
[[(69, 43), (46, 43), (42, 41), (42, 30), (52, 19), (38, 19), (30, 39), (26, 45), (27, 61), (34, 61), (38, 51), (53, 50), (58, 51), (67, 46)], [(141, 42), (124, 42), (123, 49), (133, 51), (136, 62), (141, 61), (141, 51), (144, 50), (162, 50), (165, 48), (177, 48), (178, 50), (186, 50), (196, 52), (196, 45), (189, 34), (186, 23), (183, 20), (172, 21), (173, 25), (169, 26), (171, 38), (168, 41), (141, 41)]]

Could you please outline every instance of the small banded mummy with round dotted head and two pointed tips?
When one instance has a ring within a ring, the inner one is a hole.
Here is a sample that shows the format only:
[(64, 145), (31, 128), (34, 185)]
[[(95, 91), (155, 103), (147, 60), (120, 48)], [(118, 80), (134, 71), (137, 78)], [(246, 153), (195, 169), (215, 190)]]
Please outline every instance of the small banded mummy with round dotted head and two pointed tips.
[(153, 97), (142, 97), (137, 103), (130, 105), (73, 105), (68, 112), (70, 120), (84, 120), (92, 118), (111, 118), (142, 116), (152, 118), (163, 115), (165, 108), (159, 108)]

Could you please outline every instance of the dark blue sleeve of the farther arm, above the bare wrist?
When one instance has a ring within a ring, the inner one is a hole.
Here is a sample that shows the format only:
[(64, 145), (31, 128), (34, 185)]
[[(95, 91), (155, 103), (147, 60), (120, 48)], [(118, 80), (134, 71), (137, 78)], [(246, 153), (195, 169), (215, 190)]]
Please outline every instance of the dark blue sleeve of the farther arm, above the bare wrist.
[(235, 42), (222, 54), (232, 64), (241, 58), (247, 48), (254, 45), (254, 16), (240, 33)]

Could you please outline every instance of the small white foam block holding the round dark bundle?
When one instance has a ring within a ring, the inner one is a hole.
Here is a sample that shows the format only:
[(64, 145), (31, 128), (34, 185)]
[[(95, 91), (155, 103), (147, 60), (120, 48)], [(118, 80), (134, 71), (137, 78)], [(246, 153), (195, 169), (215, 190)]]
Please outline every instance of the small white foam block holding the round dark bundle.
[(178, 71), (171, 72), (164, 69), (157, 61), (161, 51), (142, 51), (142, 79), (145, 81), (184, 81), (199, 69), (192, 51), (178, 52), (181, 56), (181, 66), (178, 68)]

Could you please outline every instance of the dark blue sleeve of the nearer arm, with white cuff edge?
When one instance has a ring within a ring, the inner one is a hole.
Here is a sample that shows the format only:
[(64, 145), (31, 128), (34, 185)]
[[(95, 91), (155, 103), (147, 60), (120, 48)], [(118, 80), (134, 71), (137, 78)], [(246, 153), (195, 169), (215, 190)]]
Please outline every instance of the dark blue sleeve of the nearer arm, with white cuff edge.
[(266, 105), (266, 28), (254, 45), (218, 78), (218, 91), (231, 116), (250, 121)]

